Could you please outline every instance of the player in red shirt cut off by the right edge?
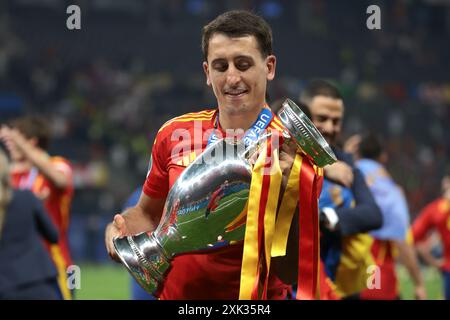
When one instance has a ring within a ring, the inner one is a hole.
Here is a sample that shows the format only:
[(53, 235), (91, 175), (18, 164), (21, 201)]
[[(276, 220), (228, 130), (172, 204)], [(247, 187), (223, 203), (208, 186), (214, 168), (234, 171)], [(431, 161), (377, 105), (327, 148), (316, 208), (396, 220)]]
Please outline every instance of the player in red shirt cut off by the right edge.
[[(423, 208), (414, 221), (413, 235), (422, 258), (430, 266), (442, 271), (445, 299), (450, 300), (450, 170), (442, 178), (441, 186), (442, 195)], [(425, 242), (433, 230), (441, 238), (444, 251), (442, 259), (436, 259)]]

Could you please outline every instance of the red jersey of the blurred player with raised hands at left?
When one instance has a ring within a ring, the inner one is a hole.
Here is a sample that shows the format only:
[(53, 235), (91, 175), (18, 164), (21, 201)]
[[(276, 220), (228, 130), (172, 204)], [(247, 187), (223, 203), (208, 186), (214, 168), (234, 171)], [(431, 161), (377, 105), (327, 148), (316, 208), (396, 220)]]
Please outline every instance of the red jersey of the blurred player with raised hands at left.
[[(45, 208), (50, 214), (53, 224), (58, 229), (58, 247), (64, 259), (65, 266), (72, 264), (68, 244), (68, 227), (70, 217), (70, 205), (73, 197), (72, 167), (68, 160), (62, 157), (52, 157), (52, 164), (69, 179), (69, 186), (64, 190), (55, 188), (36, 169), (22, 172), (12, 172), (12, 184), (18, 189), (29, 189), (44, 201)], [(59, 250), (51, 249), (47, 244), (53, 259)], [(56, 262), (56, 261), (55, 261)]]

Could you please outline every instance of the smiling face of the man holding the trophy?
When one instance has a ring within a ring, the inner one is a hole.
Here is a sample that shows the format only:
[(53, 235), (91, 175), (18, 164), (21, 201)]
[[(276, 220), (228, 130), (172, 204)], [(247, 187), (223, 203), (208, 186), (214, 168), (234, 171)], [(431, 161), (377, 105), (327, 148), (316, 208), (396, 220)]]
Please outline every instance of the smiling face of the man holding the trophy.
[(203, 62), (220, 111), (230, 115), (261, 109), (275, 66), (275, 56), (263, 58), (254, 36), (230, 38), (220, 33), (211, 37), (208, 61)]

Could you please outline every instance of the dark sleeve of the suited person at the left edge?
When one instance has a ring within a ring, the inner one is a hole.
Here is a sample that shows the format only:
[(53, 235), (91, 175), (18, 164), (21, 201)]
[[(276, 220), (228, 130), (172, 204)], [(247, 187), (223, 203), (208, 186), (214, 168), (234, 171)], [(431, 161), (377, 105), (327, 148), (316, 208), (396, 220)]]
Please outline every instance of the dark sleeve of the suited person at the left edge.
[(58, 229), (53, 224), (50, 215), (44, 208), (41, 200), (30, 191), (26, 191), (26, 198), (32, 205), (34, 219), (36, 221), (37, 230), (41, 236), (50, 243), (58, 243)]

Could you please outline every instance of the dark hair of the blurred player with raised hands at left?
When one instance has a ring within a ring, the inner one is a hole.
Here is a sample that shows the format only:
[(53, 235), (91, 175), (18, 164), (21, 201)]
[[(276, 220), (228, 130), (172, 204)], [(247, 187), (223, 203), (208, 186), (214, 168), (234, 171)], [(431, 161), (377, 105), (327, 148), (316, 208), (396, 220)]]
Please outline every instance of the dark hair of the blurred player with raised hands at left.
[(27, 139), (36, 138), (40, 148), (48, 149), (51, 133), (48, 121), (44, 117), (24, 116), (11, 121), (10, 125), (19, 130)]

